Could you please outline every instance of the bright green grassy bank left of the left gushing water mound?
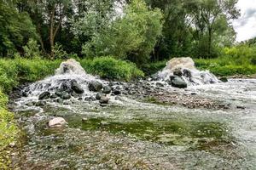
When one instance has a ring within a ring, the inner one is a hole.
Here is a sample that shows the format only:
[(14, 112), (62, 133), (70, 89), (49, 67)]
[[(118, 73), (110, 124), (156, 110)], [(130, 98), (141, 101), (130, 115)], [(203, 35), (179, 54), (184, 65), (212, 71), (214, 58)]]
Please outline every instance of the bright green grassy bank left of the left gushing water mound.
[(9, 92), (19, 82), (34, 82), (50, 74), (60, 65), (61, 60), (47, 59), (0, 59), (0, 88)]

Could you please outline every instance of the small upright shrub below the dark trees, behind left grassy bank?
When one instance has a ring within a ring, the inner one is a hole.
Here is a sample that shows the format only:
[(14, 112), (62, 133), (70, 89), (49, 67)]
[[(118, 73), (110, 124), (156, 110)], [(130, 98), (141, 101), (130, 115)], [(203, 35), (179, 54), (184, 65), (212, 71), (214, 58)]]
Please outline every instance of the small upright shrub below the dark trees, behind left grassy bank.
[(26, 58), (32, 59), (32, 58), (40, 58), (41, 52), (39, 50), (38, 42), (34, 39), (29, 39), (26, 46), (23, 47), (24, 49), (24, 56)]

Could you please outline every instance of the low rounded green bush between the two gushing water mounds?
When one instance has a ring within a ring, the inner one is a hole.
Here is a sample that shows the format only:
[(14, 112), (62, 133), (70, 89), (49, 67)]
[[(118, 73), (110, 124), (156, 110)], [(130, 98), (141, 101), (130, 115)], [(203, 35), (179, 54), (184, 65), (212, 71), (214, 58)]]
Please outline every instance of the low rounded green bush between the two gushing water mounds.
[(88, 73), (96, 74), (111, 80), (130, 81), (133, 78), (143, 77), (143, 71), (129, 61), (114, 59), (111, 56), (95, 59), (81, 59), (81, 65)]

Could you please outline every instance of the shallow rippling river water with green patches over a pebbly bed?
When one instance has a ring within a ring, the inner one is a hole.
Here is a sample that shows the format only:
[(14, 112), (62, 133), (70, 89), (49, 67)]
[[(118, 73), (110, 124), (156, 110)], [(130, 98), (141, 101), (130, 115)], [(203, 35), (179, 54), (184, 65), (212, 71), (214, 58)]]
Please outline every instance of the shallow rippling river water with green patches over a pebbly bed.
[[(21, 169), (255, 169), (256, 80), (186, 92), (232, 107), (188, 109), (125, 97), (107, 107), (86, 101), (18, 105), (26, 139), (17, 163)], [(54, 116), (64, 117), (67, 127), (48, 128)]]

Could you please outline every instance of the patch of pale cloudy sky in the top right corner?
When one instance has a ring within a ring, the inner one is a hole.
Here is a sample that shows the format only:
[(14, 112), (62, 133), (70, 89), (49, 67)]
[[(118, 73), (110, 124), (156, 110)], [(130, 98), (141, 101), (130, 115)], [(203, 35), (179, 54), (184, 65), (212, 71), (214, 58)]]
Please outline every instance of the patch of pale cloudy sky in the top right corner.
[(239, 0), (236, 7), (241, 10), (239, 19), (232, 21), (237, 33), (236, 41), (256, 37), (256, 0)]

